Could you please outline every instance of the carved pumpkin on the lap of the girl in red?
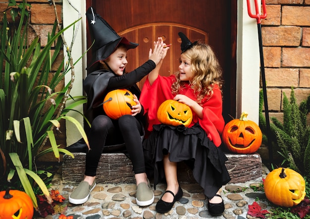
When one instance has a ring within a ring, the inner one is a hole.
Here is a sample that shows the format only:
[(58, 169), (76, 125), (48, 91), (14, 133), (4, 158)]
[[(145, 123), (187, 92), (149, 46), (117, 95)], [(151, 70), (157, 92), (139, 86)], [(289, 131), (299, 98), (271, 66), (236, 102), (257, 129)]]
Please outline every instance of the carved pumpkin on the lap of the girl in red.
[(193, 119), (193, 113), (189, 106), (174, 100), (164, 101), (157, 110), (159, 122), (166, 125), (184, 125), (188, 127)]

